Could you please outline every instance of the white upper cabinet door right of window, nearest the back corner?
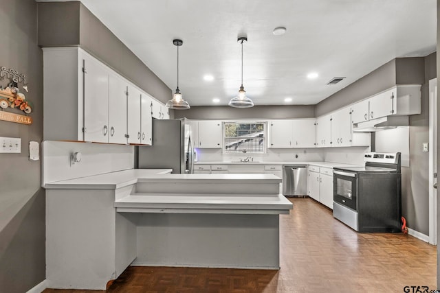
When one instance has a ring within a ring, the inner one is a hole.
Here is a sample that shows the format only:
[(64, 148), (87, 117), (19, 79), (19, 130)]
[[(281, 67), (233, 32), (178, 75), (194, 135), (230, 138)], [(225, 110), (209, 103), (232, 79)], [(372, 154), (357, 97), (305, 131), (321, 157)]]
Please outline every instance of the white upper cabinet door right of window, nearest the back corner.
[(292, 120), (294, 148), (315, 148), (316, 147), (316, 120), (295, 119)]

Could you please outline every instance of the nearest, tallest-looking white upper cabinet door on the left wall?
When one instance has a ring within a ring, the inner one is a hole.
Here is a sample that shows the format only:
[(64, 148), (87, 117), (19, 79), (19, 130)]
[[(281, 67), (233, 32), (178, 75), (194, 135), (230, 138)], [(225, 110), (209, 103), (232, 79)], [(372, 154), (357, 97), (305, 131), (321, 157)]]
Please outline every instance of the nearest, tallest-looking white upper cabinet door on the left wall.
[(109, 141), (109, 71), (98, 60), (80, 54), (84, 72), (84, 140)]

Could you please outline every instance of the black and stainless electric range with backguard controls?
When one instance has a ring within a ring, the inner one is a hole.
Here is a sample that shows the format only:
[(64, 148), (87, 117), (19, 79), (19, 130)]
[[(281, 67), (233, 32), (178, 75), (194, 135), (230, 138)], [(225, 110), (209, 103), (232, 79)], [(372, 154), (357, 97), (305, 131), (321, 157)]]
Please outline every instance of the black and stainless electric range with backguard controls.
[(359, 232), (399, 232), (400, 153), (367, 152), (363, 167), (333, 168), (333, 217)]

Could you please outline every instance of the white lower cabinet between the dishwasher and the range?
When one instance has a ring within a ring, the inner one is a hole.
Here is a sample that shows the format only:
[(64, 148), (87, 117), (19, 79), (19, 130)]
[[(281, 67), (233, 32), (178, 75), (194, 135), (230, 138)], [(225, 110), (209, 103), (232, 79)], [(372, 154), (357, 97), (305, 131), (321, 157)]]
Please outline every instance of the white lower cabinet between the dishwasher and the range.
[(309, 197), (333, 209), (333, 169), (309, 165)]

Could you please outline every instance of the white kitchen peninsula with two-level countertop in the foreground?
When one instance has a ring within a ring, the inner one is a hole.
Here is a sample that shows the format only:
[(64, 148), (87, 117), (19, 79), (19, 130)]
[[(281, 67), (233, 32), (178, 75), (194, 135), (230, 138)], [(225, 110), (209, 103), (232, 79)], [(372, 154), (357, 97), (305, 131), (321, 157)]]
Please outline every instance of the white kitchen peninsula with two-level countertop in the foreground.
[(45, 183), (50, 288), (100, 289), (137, 266), (279, 268), (272, 174), (128, 169)]

